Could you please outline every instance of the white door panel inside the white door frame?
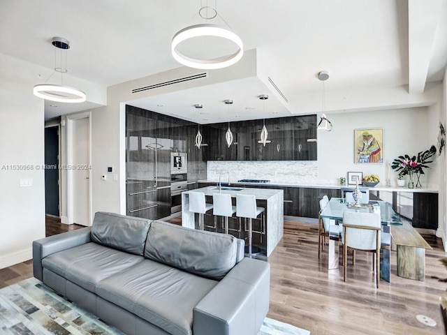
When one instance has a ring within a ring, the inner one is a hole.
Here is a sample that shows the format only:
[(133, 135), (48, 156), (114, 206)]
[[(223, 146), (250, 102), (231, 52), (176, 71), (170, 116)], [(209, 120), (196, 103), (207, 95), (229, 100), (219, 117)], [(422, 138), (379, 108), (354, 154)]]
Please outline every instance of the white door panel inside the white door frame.
[(89, 118), (73, 119), (73, 157), (69, 167), (73, 180), (73, 223), (90, 225), (90, 129)]

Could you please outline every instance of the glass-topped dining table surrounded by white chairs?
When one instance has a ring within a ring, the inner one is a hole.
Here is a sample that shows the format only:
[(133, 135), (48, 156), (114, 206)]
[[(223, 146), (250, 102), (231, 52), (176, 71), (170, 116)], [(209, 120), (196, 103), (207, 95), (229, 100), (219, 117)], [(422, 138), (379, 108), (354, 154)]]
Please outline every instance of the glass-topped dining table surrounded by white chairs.
[[(369, 200), (367, 204), (350, 204), (345, 198), (331, 198), (328, 204), (320, 211), (318, 220), (329, 218), (335, 220), (338, 227), (329, 231), (328, 269), (339, 268), (339, 246), (341, 244), (344, 211), (359, 211), (365, 213), (380, 213), (382, 233), (380, 250), (380, 276), (390, 282), (390, 227), (402, 225), (400, 215), (393, 210), (392, 204), (382, 200)], [(321, 224), (319, 222), (318, 224)]]

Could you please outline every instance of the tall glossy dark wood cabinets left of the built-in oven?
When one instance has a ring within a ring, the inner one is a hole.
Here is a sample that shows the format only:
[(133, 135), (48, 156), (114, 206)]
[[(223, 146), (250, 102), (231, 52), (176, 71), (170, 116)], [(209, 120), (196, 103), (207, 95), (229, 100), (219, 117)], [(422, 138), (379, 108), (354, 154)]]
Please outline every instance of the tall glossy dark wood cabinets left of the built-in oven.
[[(164, 218), (171, 214), (170, 154), (188, 154), (188, 177), (205, 179), (202, 149), (193, 122), (126, 106), (127, 214)], [(204, 167), (205, 165), (205, 167)]]

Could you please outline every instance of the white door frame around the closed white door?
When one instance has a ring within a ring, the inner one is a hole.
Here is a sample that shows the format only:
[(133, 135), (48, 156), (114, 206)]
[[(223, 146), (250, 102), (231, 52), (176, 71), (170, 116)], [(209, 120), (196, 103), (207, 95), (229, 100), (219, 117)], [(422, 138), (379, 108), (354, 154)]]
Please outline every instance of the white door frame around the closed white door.
[[(67, 126), (67, 218), (68, 224), (72, 225), (73, 222), (73, 121), (79, 119), (89, 120), (89, 162), (87, 163), (91, 166), (91, 112), (82, 112), (79, 114), (71, 114), (66, 117), (66, 126)], [(89, 201), (88, 201), (88, 214), (89, 214), (89, 225), (92, 222), (91, 215), (91, 169), (88, 170), (89, 173), (89, 182), (88, 182), (88, 192), (89, 192)]]

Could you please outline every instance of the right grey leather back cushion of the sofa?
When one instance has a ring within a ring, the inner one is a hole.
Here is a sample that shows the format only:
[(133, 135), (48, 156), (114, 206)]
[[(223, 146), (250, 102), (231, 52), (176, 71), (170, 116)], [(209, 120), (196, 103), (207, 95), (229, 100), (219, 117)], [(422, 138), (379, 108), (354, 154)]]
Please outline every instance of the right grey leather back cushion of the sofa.
[(228, 234), (152, 221), (145, 258), (220, 280), (236, 264), (237, 241)]

